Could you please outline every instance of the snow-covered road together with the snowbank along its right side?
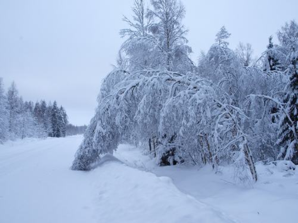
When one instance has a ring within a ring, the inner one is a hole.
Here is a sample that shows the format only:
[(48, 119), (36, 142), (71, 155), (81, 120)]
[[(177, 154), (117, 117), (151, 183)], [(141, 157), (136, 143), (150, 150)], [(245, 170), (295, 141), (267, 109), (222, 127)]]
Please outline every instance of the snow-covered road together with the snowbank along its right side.
[(81, 136), (0, 145), (0, 222), (233, 222), (167, 177), (107, 158), (69, 169)]

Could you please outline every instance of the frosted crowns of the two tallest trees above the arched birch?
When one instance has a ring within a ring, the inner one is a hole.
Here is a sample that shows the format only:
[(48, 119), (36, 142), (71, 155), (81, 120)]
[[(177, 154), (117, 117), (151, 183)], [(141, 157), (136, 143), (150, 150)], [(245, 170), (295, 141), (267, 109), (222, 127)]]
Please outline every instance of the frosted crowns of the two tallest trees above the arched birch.
[[(183, 5), (176, 0), (134, 1), (133, 19), (124, 17), (129, 28), (120, 34), (127, 40), (121, 50), (128, 57), (129, 70), (166, 69), (187, 72), (194, 68), (187, 45), (187, 29), (182, 25)], [(123, 65), (125, 57), (119, 57)]]

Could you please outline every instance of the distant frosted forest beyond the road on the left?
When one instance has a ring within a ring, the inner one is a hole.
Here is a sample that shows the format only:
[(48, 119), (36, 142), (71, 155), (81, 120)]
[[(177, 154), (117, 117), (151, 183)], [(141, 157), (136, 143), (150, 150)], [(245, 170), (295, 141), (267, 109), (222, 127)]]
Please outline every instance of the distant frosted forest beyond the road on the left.
[(65, 137), (68, 124), (65, 109), (56, 101), (33, 103), (19, 96), (15, 82), (5, 93), (0, 78), (0, 142), (26, 137)]

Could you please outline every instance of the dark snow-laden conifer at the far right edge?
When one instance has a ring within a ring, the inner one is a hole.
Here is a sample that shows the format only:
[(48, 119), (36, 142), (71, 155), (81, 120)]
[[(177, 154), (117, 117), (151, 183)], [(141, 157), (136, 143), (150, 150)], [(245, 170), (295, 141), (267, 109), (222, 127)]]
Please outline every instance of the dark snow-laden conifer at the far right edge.
[[(280, 153), (275, 158), (292, 160), (295, 163), (297, 163), (297, 27), (297, 24), (291, 21), (290, 25), (286, 23), (278, 32), (280, 46), (277, 46), (277, 49), (283, 54), (288, 53), (286, 59), (281, 60), (280, 58), (283, 57), (279, 57), (279, 65), (287, 66), (287, 69), (284, 72), (276, 72), (276, 70), (273, 73), (267, 72), (276, 84), (272, 84), (271, 81), (271, 84), (264, 87), (266, 91), (263, 90), (260, 95), (250, 95), (251, 101), (258, 98), (263, 100), (265, 105), (262, 106), (265, 109), (253, 110), (254, 114), (263, 111), (262, 124), (257, 125), (255, 129), (270, 133), (267, 139), (271, 141), (271, 147), (280, 147)], [(283, 62), (280, 63), (280, 61)], [(267, 120), (264, 122), (266, 117)], [(274, 139), (276, 143), (272, 146)], [(268, 142), (268, 140), (263, 140), (263, 142)], [(270, 150), (266, 152), (268, 151)], [(276, 154), (276, 149), (271, 151)]]

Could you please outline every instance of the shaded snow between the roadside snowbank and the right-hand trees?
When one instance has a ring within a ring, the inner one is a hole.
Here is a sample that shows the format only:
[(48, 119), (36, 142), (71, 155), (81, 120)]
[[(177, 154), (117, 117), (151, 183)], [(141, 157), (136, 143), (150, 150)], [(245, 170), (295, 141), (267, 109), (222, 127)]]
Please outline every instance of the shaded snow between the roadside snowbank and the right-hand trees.
[(140, 151), (133, 146), (120, 145), (114, 155), (131, 167), (170, 177), (184, 194), (220, 210), (235, 222), (280, 223), (296, 219), (298, 174), (293, 170), (280, 172), (274, 164), (258, 163), (258, 181), (253, 187), (246, 187), (233, 183), (232, 167), (221, 167), (222, 174), (215, 174), (208, 166), (158, 167)]

